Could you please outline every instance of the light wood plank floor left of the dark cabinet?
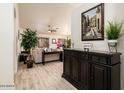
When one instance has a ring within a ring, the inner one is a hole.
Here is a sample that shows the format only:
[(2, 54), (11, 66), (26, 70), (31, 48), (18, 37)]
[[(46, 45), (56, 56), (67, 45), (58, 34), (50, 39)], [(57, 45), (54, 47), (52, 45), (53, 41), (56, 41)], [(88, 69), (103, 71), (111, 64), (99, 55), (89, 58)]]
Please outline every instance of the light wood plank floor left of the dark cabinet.
[(37, 64), (31, 69), (19, 64), (15, 75), (15, 87), (19, 90), (75, 90), (75, 87), (61, 77), (62, 72), (62, 62), (51, 62), (44, 66)]

